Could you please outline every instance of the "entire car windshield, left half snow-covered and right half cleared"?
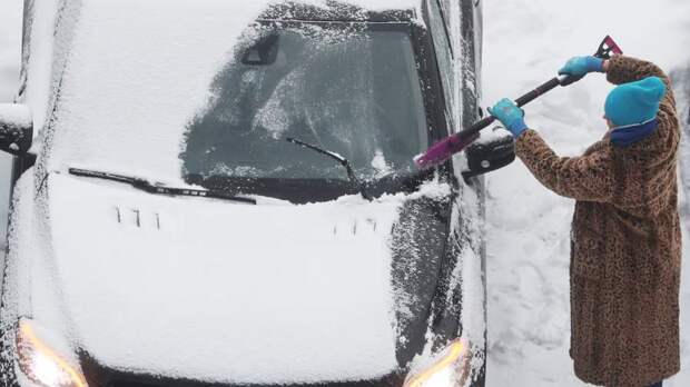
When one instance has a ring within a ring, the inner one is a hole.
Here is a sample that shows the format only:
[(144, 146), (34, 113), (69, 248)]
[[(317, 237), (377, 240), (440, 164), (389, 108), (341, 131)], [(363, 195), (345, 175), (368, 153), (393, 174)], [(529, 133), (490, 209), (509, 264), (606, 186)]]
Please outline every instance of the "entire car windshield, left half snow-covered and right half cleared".
[(256, 22), (265, 6), (249, 3), (176, 2), (179, 19), (156, 3), (85, 1), (60, 46), (41, 163), (299, 202), (357, 194), (346, 168), (293, 137), (348, 159), (372, 195), (415, 190), (412, 158), (438, 108), (422, 98), (433, 90), (421, 79), (435, 77), (422, 28)]

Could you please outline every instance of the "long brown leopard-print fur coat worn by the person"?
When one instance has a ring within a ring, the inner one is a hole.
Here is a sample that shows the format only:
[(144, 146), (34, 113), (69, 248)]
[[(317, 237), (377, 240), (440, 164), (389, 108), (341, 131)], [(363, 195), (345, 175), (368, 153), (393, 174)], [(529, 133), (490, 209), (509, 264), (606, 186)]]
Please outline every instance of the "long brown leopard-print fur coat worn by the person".
[(561, 158), (528, 130), (515, 148), (545, 187), (576, 200), (570, 262), (575, 375), (594, 385), (642, 387), (680, 370), (680, 127), (669, 78), (657, 66), (623, 56), (609, 64), (612, 83), (657, 76), (669, 86), (653, 135), (627, 148), (607, 135), (583, 156)]

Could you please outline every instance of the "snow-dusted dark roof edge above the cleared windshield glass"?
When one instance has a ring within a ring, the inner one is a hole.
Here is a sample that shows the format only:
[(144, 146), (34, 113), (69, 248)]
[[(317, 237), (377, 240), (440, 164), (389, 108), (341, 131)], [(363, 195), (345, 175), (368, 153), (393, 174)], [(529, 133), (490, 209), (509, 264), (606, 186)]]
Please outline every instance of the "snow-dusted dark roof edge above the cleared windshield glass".
[(415, 0), (287, 1), (270, 6), (262, 20), (408, 22), (417, 16)]

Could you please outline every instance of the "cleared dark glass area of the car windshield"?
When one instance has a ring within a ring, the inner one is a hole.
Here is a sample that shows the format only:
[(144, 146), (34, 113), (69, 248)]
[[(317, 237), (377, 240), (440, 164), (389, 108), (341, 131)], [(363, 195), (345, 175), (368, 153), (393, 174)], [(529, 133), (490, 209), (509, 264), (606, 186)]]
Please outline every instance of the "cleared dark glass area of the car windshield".
[(260, 24), (214, 80), (188, 126), (184, 172), (201, 179), (347, 180), (295, 138), (372, 181), (414, 171), (428, 145), (408, 24)]

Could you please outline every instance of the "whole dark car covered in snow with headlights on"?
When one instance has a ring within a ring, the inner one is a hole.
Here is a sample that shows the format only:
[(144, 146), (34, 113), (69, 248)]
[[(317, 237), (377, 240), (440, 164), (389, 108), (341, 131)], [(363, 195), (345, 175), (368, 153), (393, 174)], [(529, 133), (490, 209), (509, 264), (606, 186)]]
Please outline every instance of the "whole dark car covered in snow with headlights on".
[(480, 51), (479, 0), (27, 1), (2, 385), (483, 386), (505, 147), (412, 161)]

